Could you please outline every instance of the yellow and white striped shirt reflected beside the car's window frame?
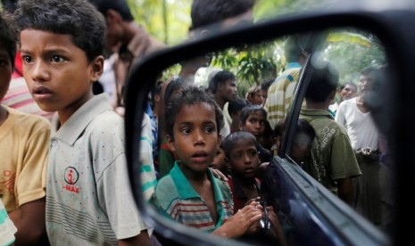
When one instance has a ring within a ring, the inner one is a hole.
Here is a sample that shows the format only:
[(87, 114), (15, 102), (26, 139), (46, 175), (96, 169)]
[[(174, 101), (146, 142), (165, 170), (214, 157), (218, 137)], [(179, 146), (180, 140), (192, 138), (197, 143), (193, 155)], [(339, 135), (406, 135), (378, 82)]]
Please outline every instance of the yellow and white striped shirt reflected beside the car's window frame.
[(287, 69), (272, 83), (268, 89), (267, 101), (264, 108), (268, 111), (268, 121), (272, 129), (278, 121), (286, 118), (291, 98), (295, 92), (301, 66), (299, 63), (289, 63)]

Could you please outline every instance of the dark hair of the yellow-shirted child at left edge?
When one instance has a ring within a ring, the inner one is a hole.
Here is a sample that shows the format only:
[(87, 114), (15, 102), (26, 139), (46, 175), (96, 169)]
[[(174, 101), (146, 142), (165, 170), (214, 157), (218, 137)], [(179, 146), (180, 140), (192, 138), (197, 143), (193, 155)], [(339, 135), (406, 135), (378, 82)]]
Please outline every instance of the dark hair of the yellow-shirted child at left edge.
[(6, 12), (0, 13), (0, 44), (3, 45), (9, 55), (12, 69), (14, 68), (14, 57), (16, 56), (17, 31), (12, 16)]

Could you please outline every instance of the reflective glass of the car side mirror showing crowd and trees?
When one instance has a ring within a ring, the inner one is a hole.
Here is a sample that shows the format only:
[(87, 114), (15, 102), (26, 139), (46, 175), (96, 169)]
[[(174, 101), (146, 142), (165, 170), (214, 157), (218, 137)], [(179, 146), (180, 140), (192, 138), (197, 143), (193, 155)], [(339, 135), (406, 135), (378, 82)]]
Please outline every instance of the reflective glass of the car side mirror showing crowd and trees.
[(161, 72), (151, 94), (158, 184), (149, 201), (159, 219), (241, 242), (328, 243), (318, 226), (329, 227), (330, 214), (311, 217), (302, 180), (281, 172), (289, 164), (329, 191), (324, 199), (345, 202), (336, 209), (390, 232), (384, 47), (356, 29), (329, 30), (324, 40), (319, 50), (310, 34), (239, 45)]

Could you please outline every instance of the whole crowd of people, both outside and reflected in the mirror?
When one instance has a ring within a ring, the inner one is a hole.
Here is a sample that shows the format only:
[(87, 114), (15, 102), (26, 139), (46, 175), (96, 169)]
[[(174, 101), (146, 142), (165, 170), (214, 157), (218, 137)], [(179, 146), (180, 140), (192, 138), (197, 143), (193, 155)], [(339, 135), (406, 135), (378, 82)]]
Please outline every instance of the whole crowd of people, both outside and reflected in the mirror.
[[(253, 4), (194, 0), (189, 38), (252, 22)], [(162, 244), (137, 210), (128, 182), (123, 96), (131, 67), (166, 45), (134, 21), (123, 0), (5, 6), (0, 244)], [(275, 208), (261, 200), (260, 176), (281, 151), (286, 114), (309, 55), (303, 42), (306, 37), (288, 38), (286, 70), (245, 97), (238, 96), (229, 70), (212, 70), (206, 85), (195, 84), (197, 70), (209, 65), (205, 56), (157, 81), (139, 126), (144, 200), (162, 216), (206, 233), (249, 240), (272, 228), (266, 234), (286, 245)], [(379, 174), (390, 178), (382, 163), (392, 161), (387, 148), (378, 147), (387, 144), (368, 99), (382, 72), (361, 70), (359, 94), (353, 82), (344, 83), (335, 102), (338, 72), (321, 61), (289, 156), (375, 225), (387, 227), (393, 204)]]

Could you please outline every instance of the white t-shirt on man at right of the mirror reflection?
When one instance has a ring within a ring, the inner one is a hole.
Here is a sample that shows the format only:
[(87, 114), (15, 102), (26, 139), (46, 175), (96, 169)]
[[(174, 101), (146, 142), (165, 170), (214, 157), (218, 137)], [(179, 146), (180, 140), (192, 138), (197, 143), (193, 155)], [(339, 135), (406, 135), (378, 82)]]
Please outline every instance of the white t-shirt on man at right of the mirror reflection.
[(362, 112), (356, 104), (357, 98), (340, 103), (336, 112), (336, 121), (343, 125), (350, 137), (353, 150), (369, 147), (378, 150), (378, 129), (370, 112)]

